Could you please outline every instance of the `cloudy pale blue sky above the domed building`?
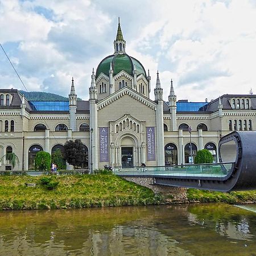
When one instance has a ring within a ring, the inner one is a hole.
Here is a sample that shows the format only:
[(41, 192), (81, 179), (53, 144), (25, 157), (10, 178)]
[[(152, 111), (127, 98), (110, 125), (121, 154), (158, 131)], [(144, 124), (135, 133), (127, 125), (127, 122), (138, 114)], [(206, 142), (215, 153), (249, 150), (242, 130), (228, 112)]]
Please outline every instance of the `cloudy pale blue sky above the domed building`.
[(164, 100), (256, 93), (256, 0), (0, 0), (0, 88), (89, 98), (92, 68), (114, 53), (120, 16), (126, 53), (159, 71)]

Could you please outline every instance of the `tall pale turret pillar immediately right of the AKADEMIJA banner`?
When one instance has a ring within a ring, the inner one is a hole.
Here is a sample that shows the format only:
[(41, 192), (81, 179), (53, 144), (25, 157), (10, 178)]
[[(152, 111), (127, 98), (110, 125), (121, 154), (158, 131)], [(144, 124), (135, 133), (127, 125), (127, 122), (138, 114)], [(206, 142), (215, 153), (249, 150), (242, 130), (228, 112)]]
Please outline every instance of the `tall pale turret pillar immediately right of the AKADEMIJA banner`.
[(156, 102), (156, 152), (158, 166), (164, 166), (164, 129), (163, 129), (163, 88), (161, 88), (159, 73), (155, 86)]

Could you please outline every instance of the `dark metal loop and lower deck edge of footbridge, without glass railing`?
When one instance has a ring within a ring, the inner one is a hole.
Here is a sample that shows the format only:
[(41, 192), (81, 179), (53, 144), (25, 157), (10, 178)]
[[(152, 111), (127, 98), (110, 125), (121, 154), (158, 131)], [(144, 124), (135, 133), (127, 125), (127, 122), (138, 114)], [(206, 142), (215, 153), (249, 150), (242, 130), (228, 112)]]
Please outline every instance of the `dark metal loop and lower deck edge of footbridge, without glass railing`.
[[(256, 189), (256, 131), (233, 131), (220, 139), (220, 163), (233, 162), (223, 177), (155, 176), (155, 183), (213, 191)], [(225, 171), (225, 164), (221, 164)]]

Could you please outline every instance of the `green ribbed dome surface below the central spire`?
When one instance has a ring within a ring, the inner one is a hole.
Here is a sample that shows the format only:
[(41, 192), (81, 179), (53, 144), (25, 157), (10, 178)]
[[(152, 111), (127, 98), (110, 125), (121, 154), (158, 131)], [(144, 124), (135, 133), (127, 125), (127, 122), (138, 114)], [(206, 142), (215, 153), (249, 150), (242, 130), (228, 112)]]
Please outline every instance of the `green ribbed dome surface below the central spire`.
[(100, 73), (104, 73), (105, 75), (109, 76), (110, 63), (112, 63), (113, 76), (117, 75), (122, 70), (133, 76), (133, 63), (135, 63), (137, 76), (143, 74), (145, 77), (147, 77), (143, 65), (137, 59), (134, 59), (134, 57), (130, 57), (126, 53), (123, 53), (105, 57), (105, 59), (103, 59), (97, 67), (96, 79)]

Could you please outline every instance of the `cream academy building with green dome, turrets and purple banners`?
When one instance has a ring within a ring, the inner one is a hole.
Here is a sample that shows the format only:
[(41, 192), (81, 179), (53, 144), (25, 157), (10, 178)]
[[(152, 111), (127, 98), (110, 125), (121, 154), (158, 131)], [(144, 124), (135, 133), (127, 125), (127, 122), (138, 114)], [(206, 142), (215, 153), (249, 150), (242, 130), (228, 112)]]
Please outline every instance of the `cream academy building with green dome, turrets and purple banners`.
[[(50, 154), (69, 139), (81, 139), (85, 166), (163, 166), (193, 162), (207, 148), (218, 161), (218, 141), (232, 130), (255, 130), (256, 95), (225, 94), (210, 102), (177, 101), (171, 81), (163, 100), (159, 74), (151, 77), (127, 55), (118, 24), (114, 54), (92, 72), (89, 101), (77, 101), (72, 79), (69, 101), (27, 101), (16, 89), (0, 89), (0, 157), (15, 152), (16, 170), (34, 169), (38, 151)], [(88, 163), (89, 162), (89, 163)], [(11, 167), (5, 159), (1, 170)]]

